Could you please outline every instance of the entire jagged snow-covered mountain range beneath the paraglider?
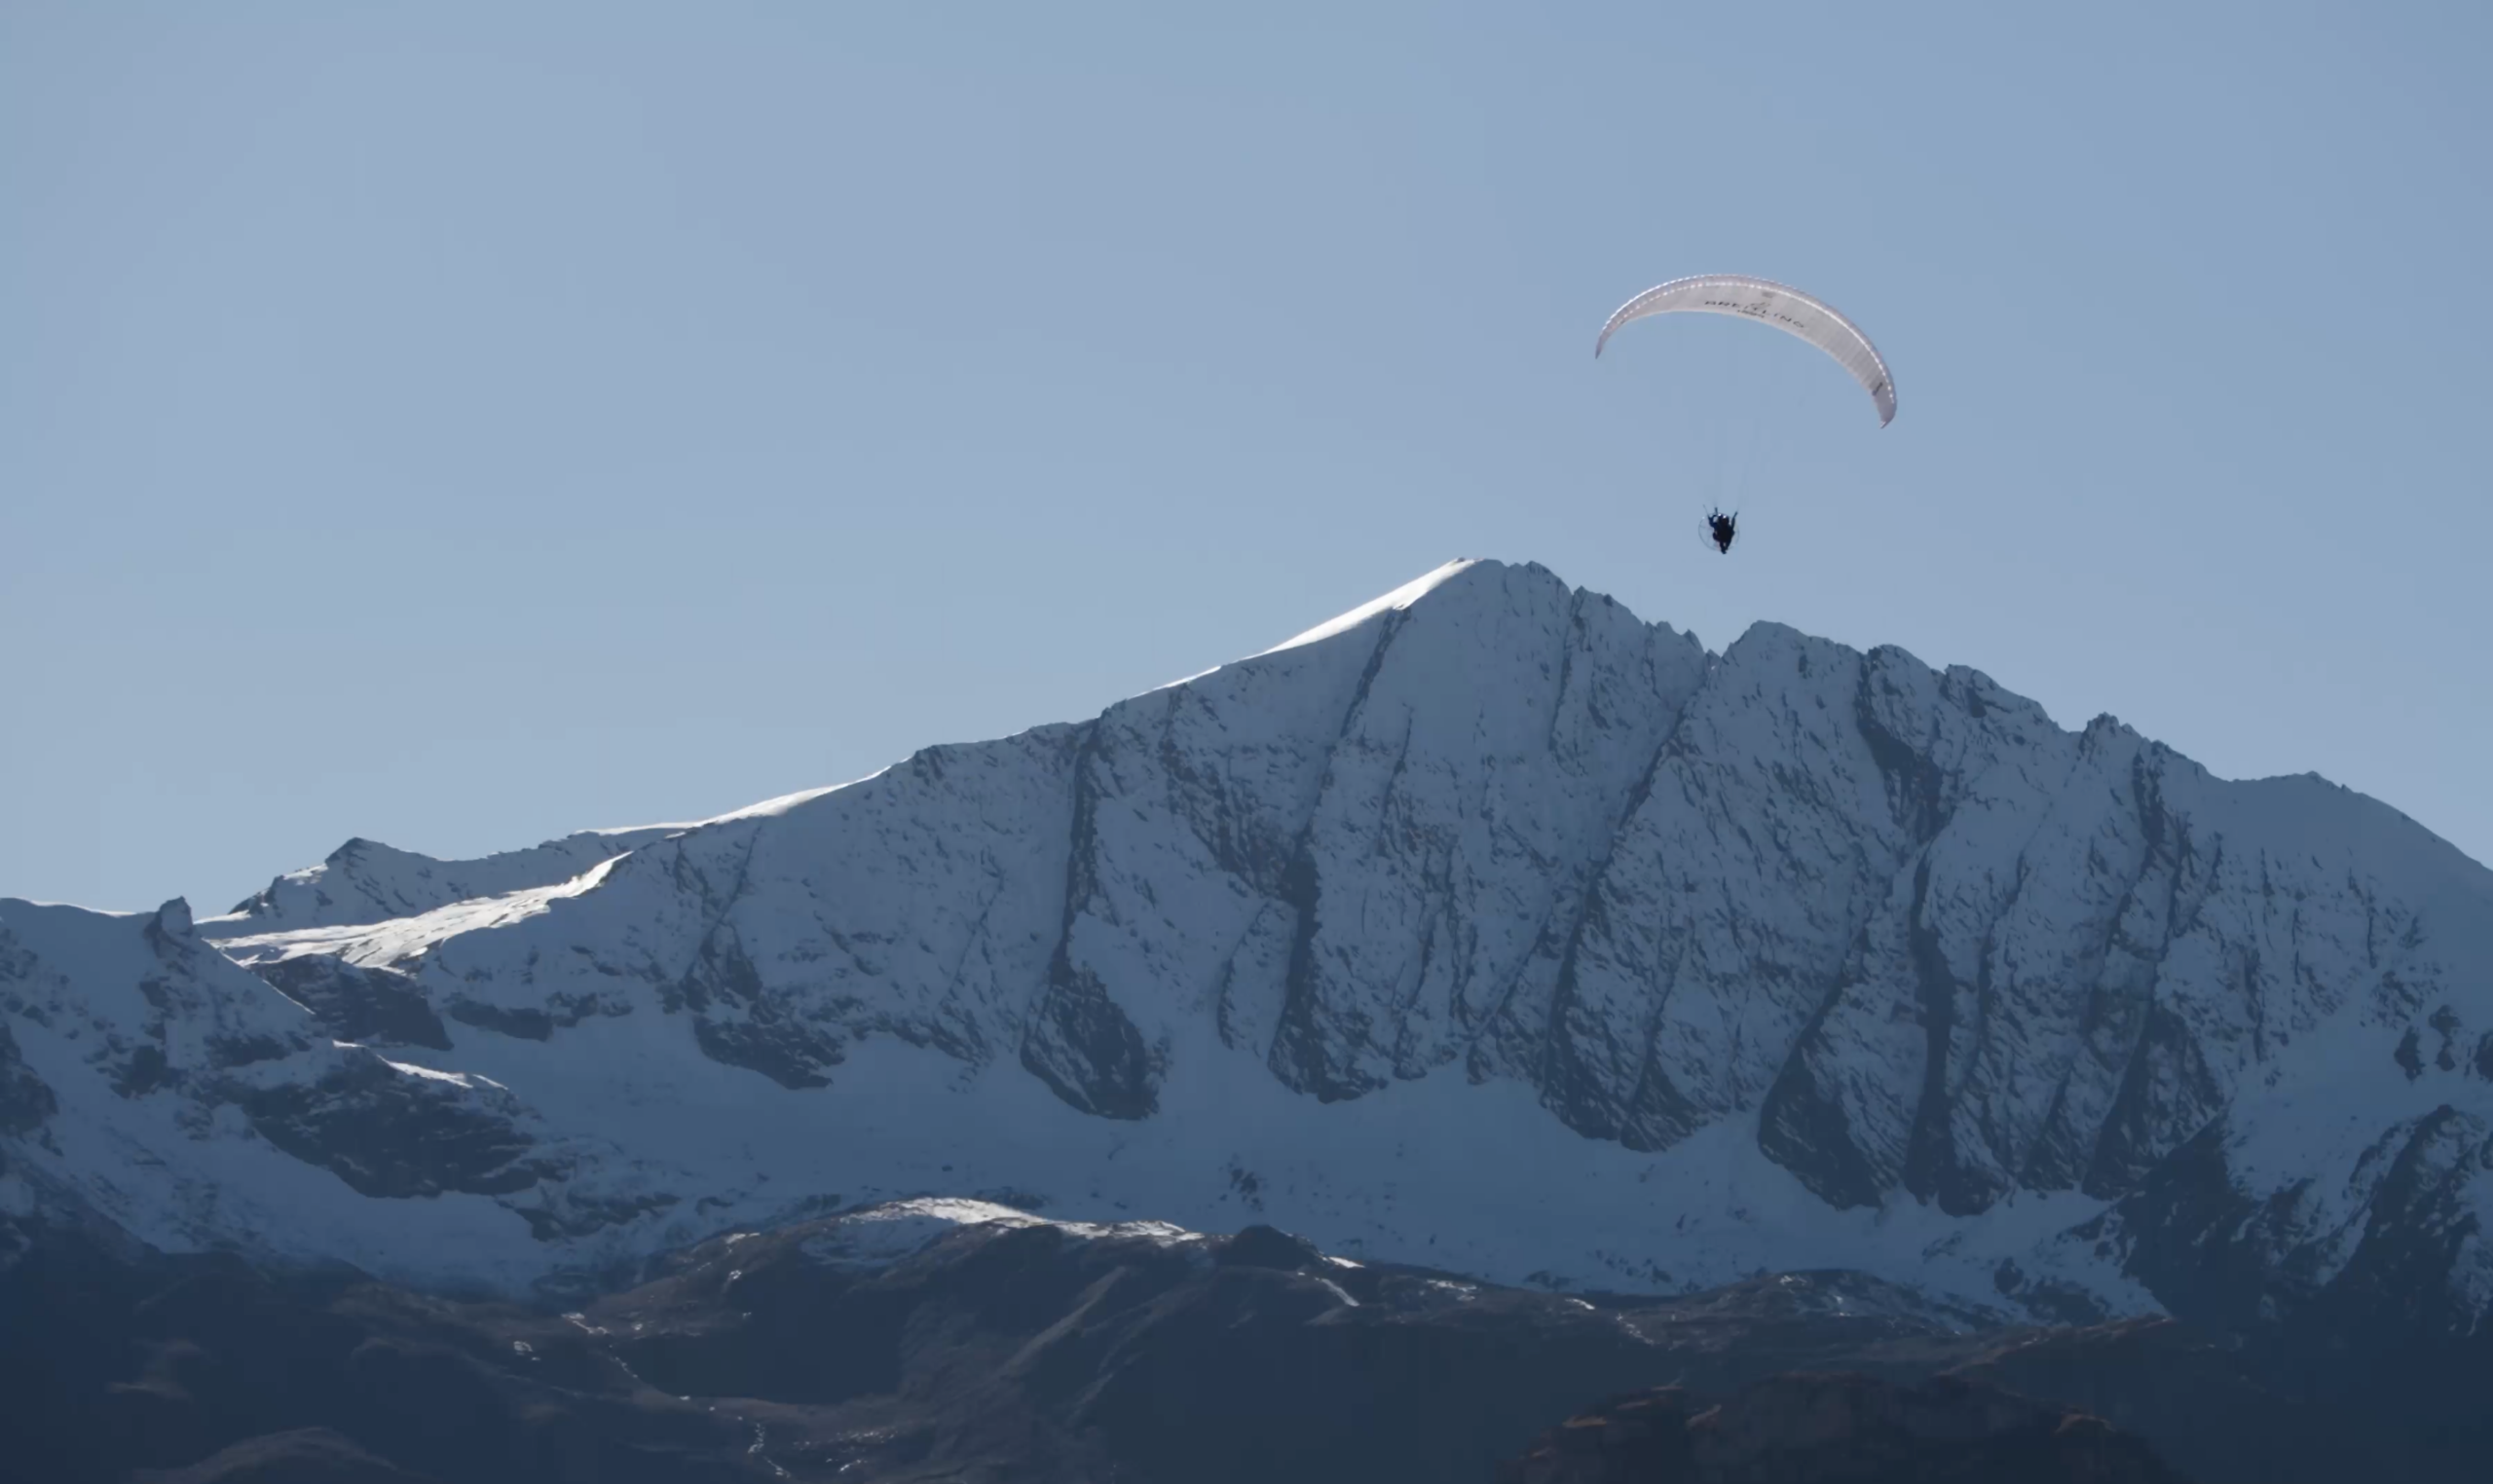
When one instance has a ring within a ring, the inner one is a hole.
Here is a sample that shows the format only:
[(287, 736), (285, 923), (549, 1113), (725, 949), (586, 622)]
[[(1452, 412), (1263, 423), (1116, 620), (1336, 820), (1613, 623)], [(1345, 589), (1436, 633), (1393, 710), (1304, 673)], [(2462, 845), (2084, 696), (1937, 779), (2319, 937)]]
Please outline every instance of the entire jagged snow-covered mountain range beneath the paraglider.
[(0, 1010), (12, 1200), (416, 1282), (962, 1195), (1613, 1289), (2493, 1304), (2493, 873), (1538, 566), (698, 826), (5, 903)]

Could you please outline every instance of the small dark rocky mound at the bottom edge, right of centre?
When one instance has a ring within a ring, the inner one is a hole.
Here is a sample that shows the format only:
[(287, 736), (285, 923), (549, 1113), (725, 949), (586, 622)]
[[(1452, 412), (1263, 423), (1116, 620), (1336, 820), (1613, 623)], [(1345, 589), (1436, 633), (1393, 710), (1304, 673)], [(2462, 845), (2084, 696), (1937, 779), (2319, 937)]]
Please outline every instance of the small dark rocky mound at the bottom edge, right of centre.
[(1680, 1387), (1571, 1417), (1501, 1484), (2181, 1484), (2107, 1422), (1940, 1377), (1787, 1374), (1713, 1402)]

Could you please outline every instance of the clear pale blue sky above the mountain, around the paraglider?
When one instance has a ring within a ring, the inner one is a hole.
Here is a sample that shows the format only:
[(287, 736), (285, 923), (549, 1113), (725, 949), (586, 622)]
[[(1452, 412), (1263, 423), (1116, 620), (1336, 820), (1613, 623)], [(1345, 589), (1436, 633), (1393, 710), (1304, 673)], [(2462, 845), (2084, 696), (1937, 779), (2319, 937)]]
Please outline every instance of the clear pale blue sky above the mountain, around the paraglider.
[[(2488, 55), (2471, 0), (7, 0), (0, 895), (703, 818), (1453, 556), (2493, 860)], [(1895, 424), (1730, 319), (1593, 359), (1690, 272), (1842, 307)]]

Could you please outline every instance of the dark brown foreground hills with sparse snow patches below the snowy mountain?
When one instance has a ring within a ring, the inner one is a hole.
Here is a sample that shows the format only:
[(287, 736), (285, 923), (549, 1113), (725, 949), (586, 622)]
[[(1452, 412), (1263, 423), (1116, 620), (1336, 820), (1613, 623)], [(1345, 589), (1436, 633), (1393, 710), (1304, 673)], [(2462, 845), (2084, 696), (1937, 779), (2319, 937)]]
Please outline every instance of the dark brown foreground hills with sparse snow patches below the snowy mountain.
[[(1648, 1414), (1715, 1439), (1690, 1442), (1693, 1467), (1728, 1457), (1740, 1419), (1817, 1429), (1810, 1467), (1942, 1469), (2024, 1459), (2017, 1439), (2049, 1417), (2054, 1442), (2032, 1457), (2129, 1469), (2064, 1474), (2097, 1484), (2336, 1484), (2356, 1467), (2456, 1482), (2483, 1457), (2481, 1437), (2289, 1402), (2241, 1349), (2174, 1322), (2004, 1329), (1862, 1274), (1603, 1299), (1349, 1265), (1271, 1227), (990, 1222), (897, 1260), (873, 1227), (850, 1215), (706, 1242), (568, 1314), (0, 1230), (15, 1252), (0, 1457), (60, 1484), (1733, 1477), (1588, 1474), (1581, 1449), (1548, 1442), (1516, 1464), (1591, 1399), (1653, 1387), (1680, 1392)], [(1932, 1377), (1952, 1379), (1910, 1389)], [(1708, 1397), (1730, 1399), (1713, 1432), (1698, 1427)], [(2072, 1412), (2104, 1422), (2064, 1429)], [(1997, 1447), (1967, 1444), (1992, 1432)]]

